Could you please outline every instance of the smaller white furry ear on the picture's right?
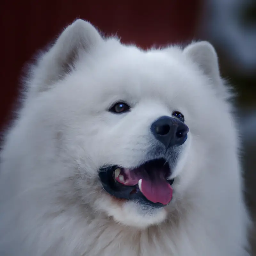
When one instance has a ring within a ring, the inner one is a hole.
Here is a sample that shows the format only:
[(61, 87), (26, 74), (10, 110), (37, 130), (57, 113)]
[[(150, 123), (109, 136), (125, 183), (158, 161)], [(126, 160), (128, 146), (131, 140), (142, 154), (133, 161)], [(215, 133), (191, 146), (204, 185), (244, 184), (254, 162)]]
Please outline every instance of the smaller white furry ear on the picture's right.
[(224, 99), (229, 97), (220, 77), (218, 56), (212, 44), (206, 41), (192, 43), (183, 50), (183, 53), (209, 78), (218, 96)]

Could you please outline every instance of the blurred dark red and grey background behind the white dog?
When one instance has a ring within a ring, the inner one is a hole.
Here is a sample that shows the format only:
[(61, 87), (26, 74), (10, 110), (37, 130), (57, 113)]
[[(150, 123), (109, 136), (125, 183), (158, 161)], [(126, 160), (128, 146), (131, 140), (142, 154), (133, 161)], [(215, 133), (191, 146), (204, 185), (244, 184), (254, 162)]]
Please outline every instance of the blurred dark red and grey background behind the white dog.
[[(22, 68), (76, 18), (142, 48), (208, 40), (238, 92), (246, 198), (256, 220), (256, 0), (1, 0), (0, 132), (12, 117)], [(256, 240), (252, 236), (256, 255)], [(217, 256), (217, 255), (216, 255)]]

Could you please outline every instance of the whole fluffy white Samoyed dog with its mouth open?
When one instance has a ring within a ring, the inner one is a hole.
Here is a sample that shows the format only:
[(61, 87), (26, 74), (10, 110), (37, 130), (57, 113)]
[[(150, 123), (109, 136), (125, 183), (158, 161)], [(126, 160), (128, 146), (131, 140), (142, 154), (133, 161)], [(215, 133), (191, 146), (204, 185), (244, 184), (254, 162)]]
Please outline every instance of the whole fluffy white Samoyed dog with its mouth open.
[(76, 20), (1, 151), (1, 256), (245, 256), (230, 90), (211, 44), (144, 51)]

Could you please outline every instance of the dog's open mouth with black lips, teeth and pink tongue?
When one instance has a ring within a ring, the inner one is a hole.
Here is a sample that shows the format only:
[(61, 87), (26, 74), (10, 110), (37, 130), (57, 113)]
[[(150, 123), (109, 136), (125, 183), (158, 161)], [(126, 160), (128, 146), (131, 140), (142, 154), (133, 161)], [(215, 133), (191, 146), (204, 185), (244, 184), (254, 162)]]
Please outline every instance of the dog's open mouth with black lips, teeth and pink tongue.
[(170, 166), (163, 158), (150, 160), (135, 169), (114, 165), (99, 172), (103, 188), (110, 195), (158, 207), (172, 200), (173, 180), (167, 180), (170, 174)]

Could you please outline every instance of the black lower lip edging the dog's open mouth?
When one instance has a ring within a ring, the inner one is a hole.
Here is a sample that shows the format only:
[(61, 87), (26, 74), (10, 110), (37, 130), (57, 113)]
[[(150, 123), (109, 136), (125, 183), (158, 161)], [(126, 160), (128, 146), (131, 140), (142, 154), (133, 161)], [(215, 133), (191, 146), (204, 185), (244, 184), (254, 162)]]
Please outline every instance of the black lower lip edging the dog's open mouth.
[[(159, 159), (157, 159), (159, 160)], [(154, 160), (153, 160), (154, 161)], [(163, 161), (165, 161), (163, 159)], [(166, 205), (161, 203), (153, 203), (149, 201), (141, 192), (138, 184), (134, 186), (124, 186), (119, 182), (116, 182), (113, 177), (113, 172), (116, 168), (122, 168), (118, 165), (105, 166), (100, 168), (99, 177), (103, 189), (108, 192), (111, 196), (115, 196), (120, 199), (134, 200), (154, 208), (164, 207)], [(172, 185), (173, 180), (168, 180), (170, 185)]]

